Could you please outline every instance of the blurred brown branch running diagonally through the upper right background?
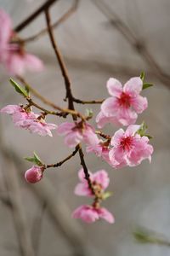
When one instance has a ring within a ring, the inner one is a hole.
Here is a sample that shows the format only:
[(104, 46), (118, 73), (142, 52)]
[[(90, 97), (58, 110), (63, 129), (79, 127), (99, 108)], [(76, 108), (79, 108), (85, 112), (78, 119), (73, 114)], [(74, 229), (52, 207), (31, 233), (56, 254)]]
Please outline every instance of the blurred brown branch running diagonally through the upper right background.
[(154, 57), (150, 55), (149, 50), (146, 48), (144, 42), (141, 38), (137, 38), (135, 34), (128, 28), (126, 23), (118, 16), (116, 13), (111, 10), (111, 7), (108, 6), (101, 0), (91, 0), (99, 11), (105, 15), (105, 17), (110, 21), (111, 26), (116, 28), (119, 32), (122, 33), (122, 36), (127, 39), (127, 42), (135, 49), (147, 65), (149, 65), (151, 71), (155, 76), (169, 88), (170, 84), (170, 75), (164, 73), (156, 62)]

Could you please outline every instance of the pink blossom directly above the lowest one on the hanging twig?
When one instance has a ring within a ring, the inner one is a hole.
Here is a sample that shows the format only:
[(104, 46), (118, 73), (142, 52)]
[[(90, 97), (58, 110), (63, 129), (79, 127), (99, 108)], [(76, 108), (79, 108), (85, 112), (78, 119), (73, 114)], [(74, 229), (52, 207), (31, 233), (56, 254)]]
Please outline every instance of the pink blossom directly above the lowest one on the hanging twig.
[[(91, 173), (91, 172), (88, 172), (88, 173), (90, 174), (90, 180), (94, 186), (94, 189), (96, 188), (104, 191), (108, 187), (110, 179), (108, 177), (107, 172), (105, 172), (105, 170), (100, 170), (94, 173)], [(88, 181), (84, 178), (85, 175), (84, 175), (83, 169), (81, 169), (78, 172), (78, 177), (81, 183), (77, 184), (75, 188), (75, 194), (86, 195), (86, 196), (93, 195), (91, 189), (88, 188)]]

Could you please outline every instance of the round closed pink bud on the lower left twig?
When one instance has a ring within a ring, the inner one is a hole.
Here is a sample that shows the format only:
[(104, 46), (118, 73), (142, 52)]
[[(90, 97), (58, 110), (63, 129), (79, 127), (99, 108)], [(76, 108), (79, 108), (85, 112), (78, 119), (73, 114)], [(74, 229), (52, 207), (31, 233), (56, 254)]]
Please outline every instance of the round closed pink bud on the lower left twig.
[(37, 183), (42, 179), (44, 168), (42, 166), (32, 166), (25, 173), (25, 179), (28, 183)]

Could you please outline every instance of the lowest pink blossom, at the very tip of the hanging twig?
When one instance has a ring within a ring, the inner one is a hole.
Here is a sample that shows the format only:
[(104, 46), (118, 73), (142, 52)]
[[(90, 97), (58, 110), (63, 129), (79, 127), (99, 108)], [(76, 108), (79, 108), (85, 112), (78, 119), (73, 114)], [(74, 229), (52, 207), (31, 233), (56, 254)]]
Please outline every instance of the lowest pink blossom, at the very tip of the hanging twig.
[(111, 214), (111, 212), (109, 212), (104, 207), (95, 208), (95, 207), (86, 206), (86, 205), (78, 207), (72, 213), (72, 218), (82, 218), (82, 220), (86, 223), (93, 223), (99, 218), (103, 218), (111, 224), (115, 222), (115, 219)]

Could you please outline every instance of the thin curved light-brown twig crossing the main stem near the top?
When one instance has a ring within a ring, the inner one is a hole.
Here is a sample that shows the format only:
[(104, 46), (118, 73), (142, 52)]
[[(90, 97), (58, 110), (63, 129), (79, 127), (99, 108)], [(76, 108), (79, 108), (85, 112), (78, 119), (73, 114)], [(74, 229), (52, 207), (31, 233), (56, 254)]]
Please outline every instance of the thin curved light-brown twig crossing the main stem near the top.
[[(51, 28), (57, 28), (59, 25), (61, 25), (65, 20), (69, 19), (70, 16), (75, 13), (78, 7), (79, 0), (75, 0), (74, 3), (72, 4), (71, 8), (68, 9), (64, 15), (62, 15), (59, 20), (54, 22), (54, 24), (51, 26)], [(23, 39), (24, 43), (30, 43), (31, 41), (37, 40), (41, 38), (43, 35), (45, 35), (48, 32), (48, 28), (42, 29), (42, 31), (38, 32), (37, 34), (31, 36), (30, 38), (25, 38)]]

